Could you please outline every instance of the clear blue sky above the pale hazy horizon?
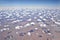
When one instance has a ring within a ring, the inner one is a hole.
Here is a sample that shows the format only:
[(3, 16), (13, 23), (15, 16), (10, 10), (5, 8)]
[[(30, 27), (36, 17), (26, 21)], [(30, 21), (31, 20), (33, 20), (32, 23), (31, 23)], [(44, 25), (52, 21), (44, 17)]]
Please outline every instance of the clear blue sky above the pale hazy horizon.
[(60, 5), (60, 0), (0, 0), (0, 6), (22, 6), (22, 5)]

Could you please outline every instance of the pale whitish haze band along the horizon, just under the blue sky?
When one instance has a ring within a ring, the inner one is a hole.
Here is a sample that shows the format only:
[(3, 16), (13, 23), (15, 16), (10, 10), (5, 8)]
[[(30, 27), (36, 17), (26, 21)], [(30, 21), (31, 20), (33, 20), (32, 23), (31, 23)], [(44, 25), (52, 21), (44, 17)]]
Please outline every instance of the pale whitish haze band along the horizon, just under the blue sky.
[(60, 6), (12, 6), (12, 7), (0, 7), (0, 9), (20, 9), (20, 8), (51, 8), (51, 9), (60, 9)]

